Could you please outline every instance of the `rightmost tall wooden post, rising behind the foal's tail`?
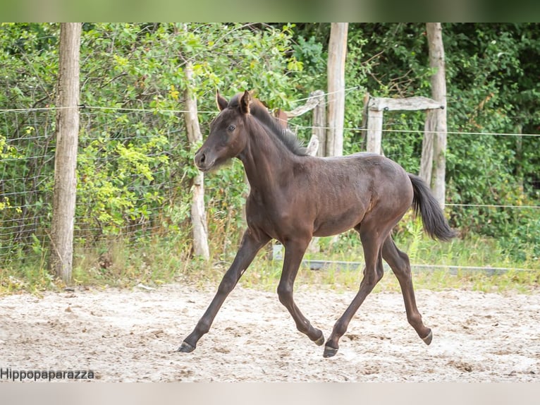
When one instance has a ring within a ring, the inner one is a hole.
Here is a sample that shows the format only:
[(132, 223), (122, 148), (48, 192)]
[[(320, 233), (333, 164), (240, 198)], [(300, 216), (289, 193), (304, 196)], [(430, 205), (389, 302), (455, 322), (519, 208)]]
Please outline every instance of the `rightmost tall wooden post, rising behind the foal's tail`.
[(431, 76), (431, 95), (443, 107), (433, 111), (436, 125), (433, 142), (434, 167), (431, 188), (438, 203), (441, 207), (444, 207), (447, 128), (446, 73), (441, 23), (426, 23), (426, 30), (429, 45), (429, 66), (436, 68), (436, 72)]

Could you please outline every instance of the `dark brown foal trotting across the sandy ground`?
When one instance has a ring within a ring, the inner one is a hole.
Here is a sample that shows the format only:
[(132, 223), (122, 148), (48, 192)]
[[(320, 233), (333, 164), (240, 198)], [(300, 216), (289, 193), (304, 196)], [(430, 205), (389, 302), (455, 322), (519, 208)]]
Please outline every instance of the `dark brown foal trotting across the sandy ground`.
[(424, 231), (431, 238), (448, 241), (455, 236), (427, 184), (418, 176), (407, 174), (393, 160), (374, 153), (343, 157), (308, 155), (294, 135), (247, 90), (230, 101), (218, 91), (216, 103), (220, 112), (195, 153), (195, 165), (208, 172), (229, 159), (240, 159), (250, 183), (245, 203), (247, 229), (214, 298), (178, 351), (195, 350), (228, 294), (271, 239), (285, 248), (278, 299), (292, 316), (297, 330), (321, 346), (324, 334), (296, 306), (293, 285), (312, 237), (332, 236), (349, 229), (360, 234), (364, 250), (362, 281), (350, 306), (333, 326), (323, 356), (328, 358), (338, 352), (339, 339), (350, 320), (383, 277), (383, 260), (398, 278), (407, 321), (429, 345), (433, 334), (417, 309), (409, 258), (395, 246), (391, 236), (410, 207), (419, 214)]

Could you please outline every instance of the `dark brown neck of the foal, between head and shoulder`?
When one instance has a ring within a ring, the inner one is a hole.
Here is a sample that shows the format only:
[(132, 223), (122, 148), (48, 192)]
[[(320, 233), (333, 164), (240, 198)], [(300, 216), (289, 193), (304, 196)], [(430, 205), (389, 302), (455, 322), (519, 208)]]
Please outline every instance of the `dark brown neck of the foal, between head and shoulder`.
[(258, 123), (250, 128), (247, 145), (239, 157), (252, 188), (272, 192), (293, 173), (296, 155), (274, 136)]

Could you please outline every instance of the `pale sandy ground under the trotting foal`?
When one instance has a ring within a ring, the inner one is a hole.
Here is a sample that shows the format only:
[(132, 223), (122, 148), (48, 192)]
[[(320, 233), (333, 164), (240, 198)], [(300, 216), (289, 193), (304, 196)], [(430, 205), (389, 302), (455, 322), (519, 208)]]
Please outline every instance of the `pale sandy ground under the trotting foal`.
[[(354, 294), (297, 286), (295, 299), (327, 337)], [(338, 354), (323, 358), (276, 294), (238, 286), (197, 349), (176, 352), (213, 295), (174, 284), (4, 296), (0, 368), (92, 370), (107, 382), (540, 382), (539, 294), (417, 291), (431, 346), (400, 294), (372, 294)]]

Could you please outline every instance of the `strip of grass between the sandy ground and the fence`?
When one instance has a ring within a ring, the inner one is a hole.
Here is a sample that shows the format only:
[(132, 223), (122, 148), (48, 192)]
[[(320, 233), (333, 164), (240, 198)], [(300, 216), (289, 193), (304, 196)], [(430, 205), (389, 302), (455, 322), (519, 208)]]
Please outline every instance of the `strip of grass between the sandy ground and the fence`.
[[(426, 267), (413, 267), (416, 289), (470, 289), (498, 292), (517, 291), (531, 294), (538, 291), (540, 270), (534, 259), (515, 261), (498, 247), (497, 241), (472, 236), (455, 239), (450, 243), (438, 243), (424, 236), (422, 229), (406, 229), (395, 236), (396, 244), (407, 252), (410, 261)], [(311, 260), (362, 262), (362, 247), (354, 233), (344, 234), (335, 241), (319, 239), (321, 252), (307, 253)], [(128, 244), (111, 241), (105, 246), (75, 251), (73, 280), (75, 285), (106, 288), (116, 286), (130, 288), (143, 284), (159, 286), (173, 282), (189, 283), (197, 287), (219, 284), (223, 273), (233, 260), (235, 248), (223, 252), (217, 246), (223, 241), (214, 241), (214, 255), (209, 263), (190, 258), (190, 246), (181, 238), (140, 239)], [(45, 267), (47, 251), (37, 252), (35, 258), (27, 258), (6, 269), (0, 269), (0, 295), (42, 291), (61, 291), (65, 286), (55, 279)], [(269, 260), (259, 254), (245, 272), (240, 285), (276, 291), (281, 275), (281, 260)], [(451, 266), (452, 272), (444, 267)], [(504, 274), (488, 275), (468, 267), (505, 267)], [(525, 270), (518, 270), (525, 269)], [(400, 291), (397, 279), (391, 271), (385, 272), (374, 291)], [(336, 291), (356, 290), (362, 278), (362, 270), (331, 265), (324, 270), (309, 270), (302, 265), (297, 275), (296, 286), (330, 288)]]

